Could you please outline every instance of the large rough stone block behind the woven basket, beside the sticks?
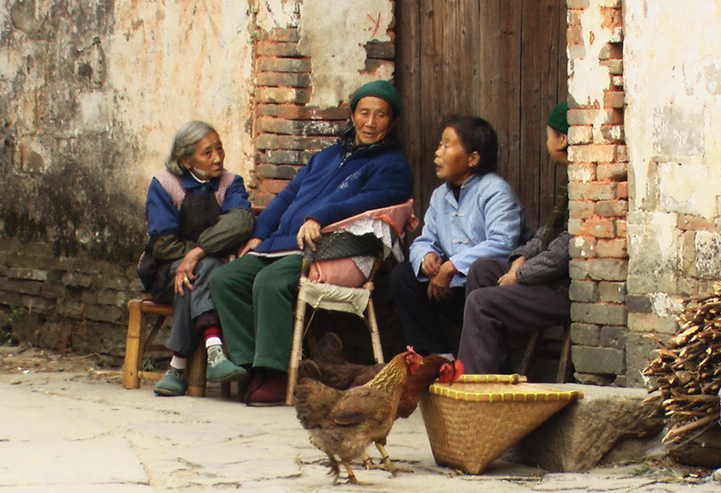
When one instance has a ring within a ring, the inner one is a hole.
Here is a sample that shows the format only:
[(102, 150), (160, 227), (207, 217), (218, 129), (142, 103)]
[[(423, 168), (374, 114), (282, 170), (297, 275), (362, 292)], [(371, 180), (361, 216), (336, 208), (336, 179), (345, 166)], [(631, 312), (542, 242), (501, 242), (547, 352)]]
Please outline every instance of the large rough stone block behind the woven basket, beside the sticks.
[(555, 387), (579, 390), (584, 398), (521, 440), (510, 458), (549, 471), (586, 471), (625, 439), (652, 442), (663, 429), (658, 404), (644, 403), (647, 395), (643, 389), (578, 384)]

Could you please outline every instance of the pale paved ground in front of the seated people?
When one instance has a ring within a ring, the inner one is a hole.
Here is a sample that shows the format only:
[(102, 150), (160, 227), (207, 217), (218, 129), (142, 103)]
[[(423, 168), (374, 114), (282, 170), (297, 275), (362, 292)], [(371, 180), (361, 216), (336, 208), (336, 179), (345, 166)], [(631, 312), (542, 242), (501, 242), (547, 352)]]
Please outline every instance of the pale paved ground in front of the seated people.
[(651, 463), (546, 474), (497, 460), (482, 475), (464, 475), (436, 465), (420, 410), (388, 438), (396, 464), (413, 472), (394, 478), (358, 464), (357, 478), (370, 484), (334, 484), (292, 407), (246, 407), (217, 387), (205, 398), (155, 397), (149, 385), (121, 387), (117, 372), (63, 369), (23, 367), (5, 354), (0, 491), (721, 491), (703, 474)]

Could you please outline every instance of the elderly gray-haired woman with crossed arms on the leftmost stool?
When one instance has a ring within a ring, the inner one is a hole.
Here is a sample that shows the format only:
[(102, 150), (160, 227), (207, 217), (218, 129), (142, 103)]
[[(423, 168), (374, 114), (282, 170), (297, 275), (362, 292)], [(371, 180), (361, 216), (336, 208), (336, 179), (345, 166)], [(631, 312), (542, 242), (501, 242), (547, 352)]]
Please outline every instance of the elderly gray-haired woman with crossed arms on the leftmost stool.
[(181, 126), (165, 166), (147, 192), (150, 239), (138, 268), (145, 289), (175, 316), (165, 346), (170, 369), (155, 385), (161, 396), (187, 390), (185, 367), (200, 337), (208, 353), (207, 379), (243, 379), (247, 373), (223, 353), (220, 321), (210, 299), (210, 276), (253, 233), (255, 216), (243, 178), (224, 169), (220, 136), (205, 122)]

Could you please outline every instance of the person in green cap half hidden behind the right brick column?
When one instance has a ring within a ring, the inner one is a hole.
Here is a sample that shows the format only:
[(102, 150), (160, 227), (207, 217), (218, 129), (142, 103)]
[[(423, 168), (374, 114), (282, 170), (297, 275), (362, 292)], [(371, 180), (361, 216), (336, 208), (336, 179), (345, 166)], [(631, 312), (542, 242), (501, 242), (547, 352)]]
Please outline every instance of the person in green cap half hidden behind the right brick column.
[[(548, 116), (546, 148), (559, 166), (568, 165), (568, 103)], [(568, 298), (568, 194), (556, 199), (546, 226), (508, 260), (480, 258), (466, 283), (466, 308), (458, 359), (466, 373), (511, 373), (508, 340), (566, 323)]]

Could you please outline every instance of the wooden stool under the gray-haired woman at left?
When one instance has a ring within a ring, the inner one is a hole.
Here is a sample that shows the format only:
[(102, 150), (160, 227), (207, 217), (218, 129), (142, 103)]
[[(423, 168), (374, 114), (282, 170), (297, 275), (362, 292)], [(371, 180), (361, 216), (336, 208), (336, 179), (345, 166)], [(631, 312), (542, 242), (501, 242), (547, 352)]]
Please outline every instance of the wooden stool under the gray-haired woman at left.
[[(150, 299), (135, 298), (127, 303), (130, 317), (127, 321), (127, 339), (125, 342), (125, 365), (123, 366), (123, 387), (138, 388), (140, 379), (157, 381), (165, 375), (160, 371), (144, 371), (142, 369), (143, 358), (149, 351), (168, 351), (167, 347), (156, 344), (160, 327), (163, 326), (167, 317), (173, 316), (171, 305), (155, 303)], [(148, 328), (148, 315), (155, 315), (155, 322), (150, 332)], [(186, 369), (188, 378), (188, 396), (205, 397), (205, 367), (207, 366), (207, 354), (205, 346), (199, 344), (193, 356), (188, 358)], [(222, 386), (223, 395), (230, 394), (230, 386)]]

